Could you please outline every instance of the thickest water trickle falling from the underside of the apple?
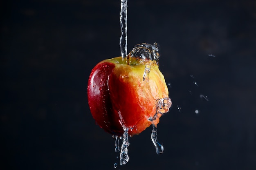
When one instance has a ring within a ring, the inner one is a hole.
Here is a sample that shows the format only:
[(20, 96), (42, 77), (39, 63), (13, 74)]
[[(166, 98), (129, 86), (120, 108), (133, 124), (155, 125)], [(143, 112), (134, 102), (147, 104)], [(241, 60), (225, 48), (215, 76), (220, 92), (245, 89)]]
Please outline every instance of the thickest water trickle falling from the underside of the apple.
[(126, 126), (123, 126), (124, 128), (124, 135), (123, 135), (123, 144), (121, 146), (121, 151), (120, 151), (120, 165), (126, 164), (129, 161), (129, 156), (128, 156), (128, 149), (127, 147), (130, 145), (128, 141), (128, 130)]

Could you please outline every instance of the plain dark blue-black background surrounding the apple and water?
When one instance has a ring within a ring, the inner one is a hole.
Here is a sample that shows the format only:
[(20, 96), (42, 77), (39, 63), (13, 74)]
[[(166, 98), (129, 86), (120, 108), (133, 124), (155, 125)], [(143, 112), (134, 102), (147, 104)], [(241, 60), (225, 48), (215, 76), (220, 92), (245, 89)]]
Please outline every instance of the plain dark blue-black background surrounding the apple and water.
[[(0, 169), (113, 169), (115, 140), (90, 114), (87, 83), (98, 62), (120, 55), (120, 1), (0, 8)], [(128, 51), (142, 42), (160, 46), (173, 107), (157, 126), (164, 153), (148, 128), (119, 168), (255, 170), (256, 2), (129, 0)]]

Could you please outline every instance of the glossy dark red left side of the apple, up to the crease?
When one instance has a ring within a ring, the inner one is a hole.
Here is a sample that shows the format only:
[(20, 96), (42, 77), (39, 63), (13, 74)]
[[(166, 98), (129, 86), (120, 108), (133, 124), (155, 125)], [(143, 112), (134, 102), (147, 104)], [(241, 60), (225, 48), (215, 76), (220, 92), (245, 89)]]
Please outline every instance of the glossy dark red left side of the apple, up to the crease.
[(87, 90), (92, 117), (101, 128), (112, 135), (121, 134), (123, 130), (119, 116), (113, 112), (110, 99), (108, 82), (114, 68), (115, 64), (110, 62), (97, 64), (90, 74)]

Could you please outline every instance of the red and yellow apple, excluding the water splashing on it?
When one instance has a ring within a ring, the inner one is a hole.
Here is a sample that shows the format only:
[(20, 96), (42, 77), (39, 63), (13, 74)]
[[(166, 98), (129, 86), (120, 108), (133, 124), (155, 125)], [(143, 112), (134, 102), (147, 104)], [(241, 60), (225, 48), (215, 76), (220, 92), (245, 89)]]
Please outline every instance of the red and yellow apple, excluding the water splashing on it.
[[(88, 104), (92, 117), (106, 132), (121, 136), (123, 126), (129, 135), (138, 135), (154, 122), (156, 100), (168, 97), (164, 76), (153, 61), (128, 65), (121, 57), (103, 60), (93, 69), (88, 81)], [(148, 81), (143, 81), (145, 64), (150, 64)]]

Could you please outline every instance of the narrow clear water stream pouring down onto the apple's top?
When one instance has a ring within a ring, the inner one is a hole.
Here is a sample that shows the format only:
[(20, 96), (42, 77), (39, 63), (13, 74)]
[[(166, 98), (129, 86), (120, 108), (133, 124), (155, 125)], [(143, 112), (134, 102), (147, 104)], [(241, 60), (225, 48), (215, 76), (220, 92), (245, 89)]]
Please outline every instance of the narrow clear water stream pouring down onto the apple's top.
[(121, 0), (120, 10), (121, 37), (119, 45), (123, 59), (127, 56), (127, 1)]

